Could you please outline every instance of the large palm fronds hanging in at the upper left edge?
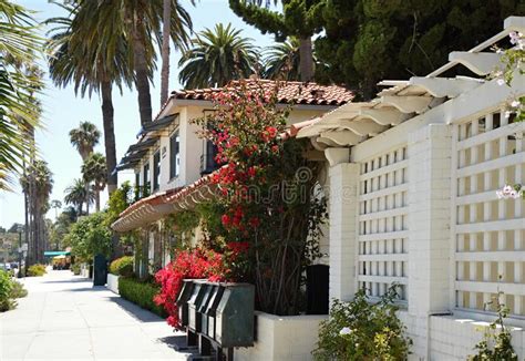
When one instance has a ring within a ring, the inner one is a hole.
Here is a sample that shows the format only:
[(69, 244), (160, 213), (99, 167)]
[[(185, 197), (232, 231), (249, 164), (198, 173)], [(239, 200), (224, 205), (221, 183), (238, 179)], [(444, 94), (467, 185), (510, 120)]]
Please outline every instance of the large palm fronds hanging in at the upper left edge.
[(0, 190), (10, 189), (12, 174), (20, 175), (24, 155), (34, 149), (27, 136), (38, 126), (40, 106), (34, 93), (42, 87), (32, 68), (42, 48), (30, 12), (0, 1)]

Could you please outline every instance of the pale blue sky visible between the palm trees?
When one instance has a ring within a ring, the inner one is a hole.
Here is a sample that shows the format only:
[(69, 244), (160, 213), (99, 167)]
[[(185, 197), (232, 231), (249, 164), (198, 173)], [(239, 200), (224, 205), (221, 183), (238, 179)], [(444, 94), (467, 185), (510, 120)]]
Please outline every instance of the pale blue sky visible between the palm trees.
[[(14, 0), (28, 9), (37, 11), (34, 18), (37, 21), (43, 21), (48, 18), (64, 16), (63, 10), (49, 3), (47, 0)], [(228, 7), (227, 0), (199, 0), (193, 7), (189, 0), (181, 1), (185, 9), (192, 16), (194, 31), (198, 32), (205, 28), (213, 28), (216, 23), (230, 22), (236, 29), (243, 29), (243, 35), (254, 39), (254, 43), (258, 47), (267, 47), (274, 42), (271, 35), (262, 35), (257, 29), (243, 22)], [(42, 29), (42, 34), (45, 29)], [(158, 54), (159, 56), (159, 54)], [(178, 83), (177, 63), (181, 53), (171, 51), (171, 73), (169, 89), (181, 89)], [(42, 62), (45, 71), (45, 63)], [(157, 114), (159, 109), (159, 69), (161, 62), (157, 63), (158, 71), (154, 75), (151, 89), (153, 115)], [(101, 103), (96, 94), (91, 99), (81, 99), (75, 96), (72, 86), (58, 89), (53, 86), (45, 74), (47, 89), (41, 96), (43, 105), (43, 128), (37, 132), (37, 143), (41, 157), (48, 162), (53, 173), (53, 193), (50, 199), (59, 199), (63, 202), (64, 190), (72, 185), (74, 178), (80, 177), (81, 157), (76, 149), (71, 145), (69, 132), (76, 127), (80, 122), (89, 121), (94, 123), (99, 130), (102, 127)], [(136, 141), (136, 134), (140, 131), (138, 105), (135, 90), (124, 90), (121, 95), (119, 90), (113, 91), (113, 106), (115, 110), (115, 137), (116, 137), (116, 156), (117, 162), (122, 158), (127, 147)], [(103, 136), (101, 143), (95, 147), (95, 152), (104, 153)], [(119, 183), (132, 180), (132, 171), (121, 172), (119, 174)], [(23, 214), (23, 195), (18, 184), (13, 193), (0, 193), (0, 227), (9, 228), (13, 223), (24, 221)], [(107, 193), (103, 193), (102, 204), (107, 200)], [(65, 206), (65, 205), (64, 205)], [(58, 210), (60, 214), (60, 210)], [(48, 213), (48, 218), (55, 218), (55, 210)]]

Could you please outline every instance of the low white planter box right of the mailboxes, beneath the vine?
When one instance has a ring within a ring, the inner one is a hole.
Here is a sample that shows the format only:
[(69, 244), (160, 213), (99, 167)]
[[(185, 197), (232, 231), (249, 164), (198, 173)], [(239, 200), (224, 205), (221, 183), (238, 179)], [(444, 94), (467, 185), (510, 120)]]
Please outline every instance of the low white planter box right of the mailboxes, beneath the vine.
[(275, 316), (256, 312), (256, 342), (253, 348), (235, 349), (236, 361), (312, 360), (319, 322), (327, 314)]

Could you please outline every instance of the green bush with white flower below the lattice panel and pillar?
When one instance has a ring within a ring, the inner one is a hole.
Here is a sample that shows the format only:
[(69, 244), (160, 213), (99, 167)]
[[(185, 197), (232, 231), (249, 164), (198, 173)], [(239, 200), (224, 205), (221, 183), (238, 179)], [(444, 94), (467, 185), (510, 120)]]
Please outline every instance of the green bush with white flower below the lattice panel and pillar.
[(397, 317), (397, 286), (371, 303), (364, 290), (351, 302), (334, 300), (330, 319), (321, 322), (316, 360), (406, 360), (412, 340)]

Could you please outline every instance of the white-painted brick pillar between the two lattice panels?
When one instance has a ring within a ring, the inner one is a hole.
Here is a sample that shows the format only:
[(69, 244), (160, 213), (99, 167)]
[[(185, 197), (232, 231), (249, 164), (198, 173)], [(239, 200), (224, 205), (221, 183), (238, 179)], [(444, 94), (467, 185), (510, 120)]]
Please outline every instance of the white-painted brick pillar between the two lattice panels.
[(413, 351), (430, 357), (429, 316), (449, 309), (451, 126), (409, 134), (409, 313)]

